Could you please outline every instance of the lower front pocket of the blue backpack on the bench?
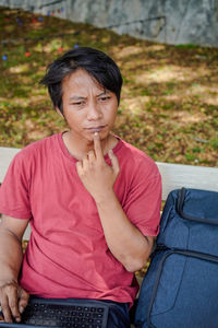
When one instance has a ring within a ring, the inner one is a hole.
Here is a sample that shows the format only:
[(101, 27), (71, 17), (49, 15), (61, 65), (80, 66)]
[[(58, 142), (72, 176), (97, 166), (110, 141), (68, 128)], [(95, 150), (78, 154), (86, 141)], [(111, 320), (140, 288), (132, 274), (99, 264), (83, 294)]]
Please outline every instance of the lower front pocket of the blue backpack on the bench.
[(147, 323), (142, 327), (217, 328), (217, 257), (184, 250), (165, 251), (147, 306)]

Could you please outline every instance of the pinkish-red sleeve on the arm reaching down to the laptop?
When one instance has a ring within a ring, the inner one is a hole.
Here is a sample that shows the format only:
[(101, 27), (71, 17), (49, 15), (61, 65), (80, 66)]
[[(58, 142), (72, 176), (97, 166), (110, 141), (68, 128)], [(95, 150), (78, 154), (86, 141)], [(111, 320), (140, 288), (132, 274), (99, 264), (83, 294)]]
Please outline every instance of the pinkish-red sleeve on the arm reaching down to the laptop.
[(0, 213), (16, 219), (32, 218), (28, 166), (22, 151), (11, 162), (0, 187)]

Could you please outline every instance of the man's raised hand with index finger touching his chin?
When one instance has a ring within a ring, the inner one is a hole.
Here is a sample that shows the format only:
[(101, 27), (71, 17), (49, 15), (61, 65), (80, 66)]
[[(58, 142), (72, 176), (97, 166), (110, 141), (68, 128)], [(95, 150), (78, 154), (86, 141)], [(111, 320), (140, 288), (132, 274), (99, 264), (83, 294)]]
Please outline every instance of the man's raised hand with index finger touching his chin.
[(112, 150), (108, 153), (111, 166), (105, 159), (98, 133), (94, 134), (94, 150), (76, 163), (77, 174), (96, 202), (107, 197), (107, 192), (112, 191), (113, 184), (119, 175), (120, 167), (117, 156)]

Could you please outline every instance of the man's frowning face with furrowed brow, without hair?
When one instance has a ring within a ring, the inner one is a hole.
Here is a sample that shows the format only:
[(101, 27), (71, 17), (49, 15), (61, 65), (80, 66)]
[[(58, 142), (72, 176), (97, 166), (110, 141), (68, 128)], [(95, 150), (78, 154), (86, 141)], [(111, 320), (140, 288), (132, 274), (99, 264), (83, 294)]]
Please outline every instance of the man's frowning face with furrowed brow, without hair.
[(118, 110), (116, 94), (82, 69), (64, 78), (62, 92), (63, 115), (73, 137), (90, 142), (99, 132), (100, 139), (106, 139)]

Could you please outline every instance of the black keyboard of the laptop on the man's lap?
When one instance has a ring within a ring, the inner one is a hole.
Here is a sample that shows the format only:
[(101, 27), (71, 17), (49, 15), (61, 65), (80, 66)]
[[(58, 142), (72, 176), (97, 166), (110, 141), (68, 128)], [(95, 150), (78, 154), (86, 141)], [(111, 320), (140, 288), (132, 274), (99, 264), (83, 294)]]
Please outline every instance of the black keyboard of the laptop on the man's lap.
[(46, 327), (106, 327), (106, 308), (100, 306), (34, 303), (26, 307), (22, 324)]

